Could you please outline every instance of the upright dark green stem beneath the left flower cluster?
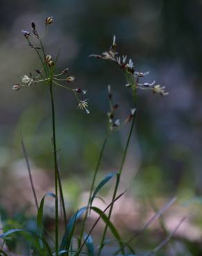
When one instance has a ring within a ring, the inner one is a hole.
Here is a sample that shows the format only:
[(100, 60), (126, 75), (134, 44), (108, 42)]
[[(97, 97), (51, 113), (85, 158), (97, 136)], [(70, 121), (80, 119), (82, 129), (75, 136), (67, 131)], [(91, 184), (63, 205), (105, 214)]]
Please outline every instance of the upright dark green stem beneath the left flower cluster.
[[(52, 76), (52, 79), (51, 79)], [(56, 136), (55, 136), (55, 106), (53, 98), (53, 72), (50, 74), (50, 101), (52, 110), (52, 127), (53, 127), (53, 154), (54, 154), (54, 165), (55, 165), (55, 255), (58, 256), (58, 168), (57, 168), (57, 147), (56, 147)]]

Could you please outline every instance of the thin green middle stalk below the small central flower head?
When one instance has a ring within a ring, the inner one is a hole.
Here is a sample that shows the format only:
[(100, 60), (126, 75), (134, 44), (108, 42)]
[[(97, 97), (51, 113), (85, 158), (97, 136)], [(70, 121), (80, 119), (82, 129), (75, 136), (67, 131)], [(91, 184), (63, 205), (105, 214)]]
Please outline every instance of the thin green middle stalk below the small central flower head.
[(91, 190), (90, 190), (90, 194), (89, 194), (89, 201), (88, 201), (88, 204), (87, 204), (87, 210), (85, 212), (85, 216), (84, 216), (84, 221), (82, 223), (82, 230), (81, 230), (81, 233), (80, 233), (80, 241), (82, 241), (82, 237), (84, 235), (84, 228), (85, 228), (85, 224), (86, 224), (86, 219), (88, 217), (88, 214), (89, 214), (89, 206), (90, 206), (90, 203), (91, 203), (91, 196), (93, 194), (93, 189), (95, 187), (95, 180), (96, 180), (96, 177), (98, 175), (98, 170), (99, 170), (99, 167), (100, 167), (100, 162), (102, 160), (102, 156), (103, 156), (103, 153), (104, 153), (104, 148), (107, 144), (107, 140), (109, 138), (109, 134), (107, 134), (106, 138), (104, 139), (104, 143), (102, 144), (102, 148), (101, 148), (101, 151), (100, 151), (100, 156), (98, 158), (98, 162), (97, 162), (97, 165), (95, 167), (95, 172), (94, 172), (94, 175), (93, 175), (93, 181), (91, 183)]

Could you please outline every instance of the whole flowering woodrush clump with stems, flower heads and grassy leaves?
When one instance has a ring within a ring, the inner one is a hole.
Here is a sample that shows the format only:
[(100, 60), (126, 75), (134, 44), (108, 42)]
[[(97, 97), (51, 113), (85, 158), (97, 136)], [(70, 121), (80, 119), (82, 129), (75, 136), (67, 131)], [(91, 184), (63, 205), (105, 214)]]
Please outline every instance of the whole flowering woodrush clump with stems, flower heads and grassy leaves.
[[(44, 22), (44, 35), (48, 30), (48, 27), (51, 26), (53, 23), (53, 17), (46, 18)], [(111, 86), (108, 86), (108, 101), (109, 101), (109, 112), (107, 113), (107, 133), (106, 137), (104, 138), (104, 142), (102, 144), (100, 150), (100, 156), (98, 157), (98, 163), (95, 167), (95, 172), (93, 174), (93, 180), (91, 183), (91, 188), (89, 192), (89, 200), (87, 205), (84, 205), (83, 208), (77, 210), (75, 214), (71, 217), (71, 219), (67, 219), (66, 217), (66, 205), (64, 200), (64, 193), (62, 188), (62, 182), (59, 174), (59, 167), (58, 167), (58, 146), (57, 146), (57, 139), (56, 139), (56, 127), (55, 127), (55, 99), (54, 99), (54, 89), (55, 86), (59, 86), (61, 89), (66, 89), (70, 93), (73, 94), (75, 100), (77, 102), (77, 109), (84, 111), (85, 114), (89, 114), (89, 102), (86, 99), (86, 91), (80, 88), (74, 88), (74, 81), (75, 77), (69, 73), (68, 68), (64, 68), (63, 71), (57, 72), (57, 61), (59, 60), (59, 53), (55, 57), (53, 55), (47, 53), (46, 48), (44, 46), (44, 35), (39, 35), (37, 31), (37, 26), (34, 21), (30, 24), (32, 32), (27, 30), (22, 30), (22, 33), (28, 43), (28, 46), (32, 48), (37, 56), (39, 57), (39, 67), (35, 69), (33, 73), (29, 73), (28, 75), (24, 74), (21, 76), (21, 82), (17, 83), (12, 86), (14, 91), (19, 91), (21, 89), (26, 89), (30, 86), (37, 86), (38, 84), (44, 84), (47, 87), (47, 90), (50, 94), (50, 109), (52, 113), (52, 140), (53, 140), (53, 162), (54, 162), (54, 174), (55, 174), (55, 192), (48, 192), (44, 197), (41, 199), (40, 203), (37, 201), (37, 194), (35, 192), (35, 185), (33, 184), (33, 179), (30, 172), (30, 167), (28, 163), (28, 157), (26, 154), (26, 148), (24, 145), (24, 140), (21, 140), (22, 147), (24, 151), (24, 156), (26, 158), (26, 163), (28, 166), (29, 176), (30, 176), (30, 183), (33, 189), (33, 195), (35, 196), (35, 203), (37, 208), (37, 232), (33, 232), (33, 230), (28, 230), (24, 228), (15, 228), (13, 227), (10, 230), (5, 230), (0, 238), (3, 240), (3, 246), (1, 246), (0, 254), (1, 255), (10, 255), (9, 252), (6, 251), (6, 241), (8, 237), (12, 237), (12, 234), (21, 232), (23, 234), (27, 234), (29, 239), (32, 241), (30, 244), (30, 254), (29, 255), (103, 255), (102, 251), (104, 246), (107, 244), (107, 230), (111, 231), (114, 239), (117, 242), (117, 248), (114, 251), (113, 255), (136, 255), (135, 248), (132, 248), (131, 241), (134, 239), (134, 235), (128, 241), (124, 241), (120, 235), (120, 232), (117, 230), (116, 226), (113, 225), (111, 222), (111, 214), (113, 212), (113, 205), (116, 201), (124, 194), (118, 194), (118, 188), (120, 185), (121, 177), (123, 175), (123, 167), (125, 165), (125, 159), (127, 156), (129, 143), (131, 140), (131, 135), (134, 129), (134, 124), (136, 120), (136, 112), (138, 111), (137, 106), (137, 97), (138, 97), (138, 90), (145, 90), (152, 93), (158, 93), (160, 95), (168, 95), (167, 91), (165, 90), (165, 86), (160, 86), (156, 84), (156, 82), (146, 82), (141, 83), (141, 77), (145, 77), (149, 75), (149, 72), (138, 72), (134, 66), (134, 62), (128, 58), (126, 55), (119, 55), (117, 52), (116, 46), (116, 37), (113, 37), (113, 42), (109, 51), (104, 51), (101, 55), (92, 54), (90, 57), (95, 57), (99, 60), (107, 60), (116, 64), (118, 68), (122, 70), (123, 75), (125, 75), (125, 88), (130, 91), (131, 98), (133, 99), (133, 104), (128, 109), (128, 115), (125, 117), (123, 122), (120, 122), (119, 118), (115, 118), (118, 114), (119, 104), (114, 102), (113, 99), (113, 92)], [(129, 134), (127, 135), (127, 141), (125, 143), (125, 149), (122, 153), (122, 161), (119, 167), (118, 172), (110, 173), (105, 176), (102, 181), (98, 180), (98, 171), (100, 167), (100, 163), (102, 161), (102, 156), (107, 145), (107, 141), (109, 140), (111, 134), (115, 131), (120, 130), (123, 125), (130, 125)], [(100, 190), (106, 185), (107, 183), (111, 182), (112, 178), (116, 179), (115, 188), (113, 190), (113, 194), (111, 196), (111, 203), (107, 205), (104, 210), (93, 206), (93, 200)], [(97, 184), (95, 186), (95, 184)], [(48, 230), (44, 228), (44, 201), (46, 196), (50, 196), (55, 200), (55, 234), (54, 238), (51, 237)], [(172, 203), (174, 203), (176, 199), (172, 199), (169, 201), (160, 211), (157, 211), (154, 214), (154, 217), (149, 220), (148, 223), (145, 224), (143, 230), (149, 226), (152, 221), (155, 221), (160, 217), (167, 208), (169, 208)], [(59, 202), (61, 202), (62, 206), (62, 216), (59, 216)], [(95, 223), (91, 228), (87, 230), (86, 227), (86, 220), (88, 219), (91, 211), (98, 214), (98, 219), (96, 219)], [(63, 219), (64, 227), (60, 230), (59, 229), (59, 219)], [(75, 226), (77, 225), (77, 220), (82, 219), (82, 226), (80, 228), (80, 233), (75, 232)], [(92, 233), (97, 225), (98, 221), (104, 222), (104, 230), (100, 236), (100, 244), (98, 244), (98, 248), (95, 247), (93, 243)], [(178, 227), (177, 227), (178, 228)], [(140, 230), (142, 232), (143, 230)], [(174, 230), (175, 232), (176, 230)], [(174, 233), (173, 232), (173, 233)], [(173, 234), (170, 234), (167, 238), (167, 241), (172, 237)], [(76, 243), (73, 242), (76, 239)], [(109, 242), (109, 241), (108, 241)], [(166, 244), (164, 242), (164, 244)], [(151, 253), (156, 253), (164, 244), (160, 244), (158, 248), (154, 248), (151, 250)], [(161, 246), (162, 245), (162, 246)]]

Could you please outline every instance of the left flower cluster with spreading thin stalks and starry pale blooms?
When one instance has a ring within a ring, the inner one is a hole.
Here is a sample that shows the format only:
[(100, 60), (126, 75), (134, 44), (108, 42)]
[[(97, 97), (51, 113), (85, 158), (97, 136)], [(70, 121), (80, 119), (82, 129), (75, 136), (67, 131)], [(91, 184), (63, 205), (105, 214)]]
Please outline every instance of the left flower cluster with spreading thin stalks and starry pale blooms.
[[(47, 17), (45, 20), (45, 29), (48, 25), (52, 23), (53, 17)], [(79, 97), (79, 95), (85, 95), (86, 91), (80, 88), (73, 89), (70, 86), (67, 86), (69, 83), (75, 81), (75, 77), (73, 75), (68, 75), (68, 68), (65, 68), (61, 73), (53, 73), (55, 68), (52, 67), (55, 66), (55, 60), (50, 54), (46, 55), (44, 45), (42, 44), (42, 37), (39, 36), (34, 21), (31, 21), (31, 29), (33, 33), (30, 33), (27, 30), (22, 30), (22, 33), (28, 42), (28, 46), (36, 51), (40, 62), (42, 62), (41, 64), (43, 68), (42, 70), (36, 69), (35, 72), (37, 74), (35, 76), (33, 76), (32, 73), (30, 73), (29, 75), (21, 76), (21, 83), (14, 84), (12, 86), (12, 89), (15, 91), (19, 91), (19, 89), (21, 89), (22, 87), (29, 87), (33, 84), (38, 84), (40, 82), (44, 82), (48, 85), (51, 82), (55, 86), (60, 86), (64, 89), (68, 89), (69, 91), (71, 91), (73, 95), (75, 95), (75, 98), (77, 100), (77, 108), (85, 110), (86, 113), (90, 113), (88, 109), (88, 100), (84, 99), (83, 96), (82, 98)], [(37, 39), (38, 45), (33, 44), (33, 42), (31, 42), (31, 38)], [(64, 82), (66, 82), (66, 84), (62, 84)]]

